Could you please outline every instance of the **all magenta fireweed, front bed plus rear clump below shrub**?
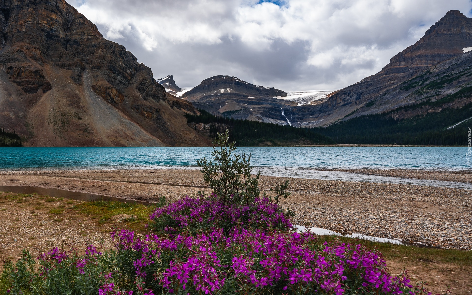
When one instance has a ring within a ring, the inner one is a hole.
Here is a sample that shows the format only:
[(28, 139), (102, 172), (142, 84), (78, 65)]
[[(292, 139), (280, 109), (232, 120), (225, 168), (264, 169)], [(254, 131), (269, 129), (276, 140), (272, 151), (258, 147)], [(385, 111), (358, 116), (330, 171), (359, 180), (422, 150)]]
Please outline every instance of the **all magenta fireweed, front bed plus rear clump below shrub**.
[[(84, 255), (71, 251), (68, 256), (57, 247), (42, 253), (41, 279), (47, 280), (57, 268), (73, 269), (83, 278), (96, 277), (99, 295), (133, 295), (125, 291), (129, 289), (143, 295), (153, 295), (151, 290), (217, 295), (242, 286), (247, 294), (424, 291), (413, 286), (406, 273), (391, 276), (375, 249), (337, 241), (320, 244), (310, 232), (287, 229), (289, 219), (264, 198), (253, 205), (232, 205), (214, 197), (185, 197), (156, 209), (151, 219), (160, 226), (158, 234), (141, 237), (127, 229), (113, 231), (116, 249), (106, 254), (92, 244), (86, 244)], [(110, 261), (121, 261), (129, 269), (128, 285), (120, 285), (124, 275)]]

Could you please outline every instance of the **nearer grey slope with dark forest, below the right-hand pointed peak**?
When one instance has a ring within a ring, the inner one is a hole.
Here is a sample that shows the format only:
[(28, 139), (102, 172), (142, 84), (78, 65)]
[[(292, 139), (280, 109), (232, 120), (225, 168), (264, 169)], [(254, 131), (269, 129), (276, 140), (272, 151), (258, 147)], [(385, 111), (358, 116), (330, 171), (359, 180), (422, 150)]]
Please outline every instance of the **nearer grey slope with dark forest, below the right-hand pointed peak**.
[(412, 103), (368, 115), (354, 112), (314, 129), (337, 143), (466, 145), (472, 122), (472, 51), (419, 71), (390, 91), (358, 112), (374, 108), (386, 96)]

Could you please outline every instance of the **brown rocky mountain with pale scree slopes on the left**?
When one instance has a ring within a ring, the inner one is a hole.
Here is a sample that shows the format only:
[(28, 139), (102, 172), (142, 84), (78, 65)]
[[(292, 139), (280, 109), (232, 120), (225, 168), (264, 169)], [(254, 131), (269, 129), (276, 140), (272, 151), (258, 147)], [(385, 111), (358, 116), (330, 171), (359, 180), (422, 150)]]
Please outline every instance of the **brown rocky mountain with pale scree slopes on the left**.
[(25, 146), (207, 145), (191, 103), (64, 0), (0, 2), (0, 126)]

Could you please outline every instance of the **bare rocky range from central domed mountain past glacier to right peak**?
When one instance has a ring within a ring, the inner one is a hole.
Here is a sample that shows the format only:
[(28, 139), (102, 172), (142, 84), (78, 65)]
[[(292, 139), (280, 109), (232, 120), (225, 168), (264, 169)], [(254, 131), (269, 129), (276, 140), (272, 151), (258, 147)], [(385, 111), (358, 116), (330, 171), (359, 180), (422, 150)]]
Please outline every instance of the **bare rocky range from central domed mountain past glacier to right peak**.
[[(414, 117), (438, 108), (436, 103), (427, 101), (442, 100), (470, 86), (471, 62), (467, 56), (471, 50), (472, 19), (451, 10), (418, 42), (396, 54), (379, 73), (335, 92), (285, 93), (274, 89), (281, 94), (254, 93), (267, 88), (236, 77), (215, 76), (182, 97), (213, 115), (223, 113), (230, 118), (298, 127), (329, 126), (380, 113), (391, 113), (396, 118)], [(421, 103), (424, 103), (421, 111), (401, 115), (396, 111)], [(454, 105), (464, 103), (466, 98), (461, 96)]]

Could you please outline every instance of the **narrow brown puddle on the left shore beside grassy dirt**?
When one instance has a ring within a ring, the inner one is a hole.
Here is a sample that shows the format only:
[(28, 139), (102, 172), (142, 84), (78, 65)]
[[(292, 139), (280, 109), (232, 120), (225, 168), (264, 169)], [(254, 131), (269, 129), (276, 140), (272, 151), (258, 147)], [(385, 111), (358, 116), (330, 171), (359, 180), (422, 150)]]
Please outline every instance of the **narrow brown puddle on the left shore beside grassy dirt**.
[(118, 201), (128, 203), (140, 203), (143, 205), (151, 205), (150, 202), (141, 202), (136, 200), (127, 200), (123, 198), (110, 197), (101, 194), (87, 194), (80, 192), (70, 192), (57, 188), (44, 188), (35, 186), (16, 186), (16, 185), (0, 185), (0, 192), (12, 192), (17, 194), (41, 194), (55, 198), (74, 199), (78, 201)]

